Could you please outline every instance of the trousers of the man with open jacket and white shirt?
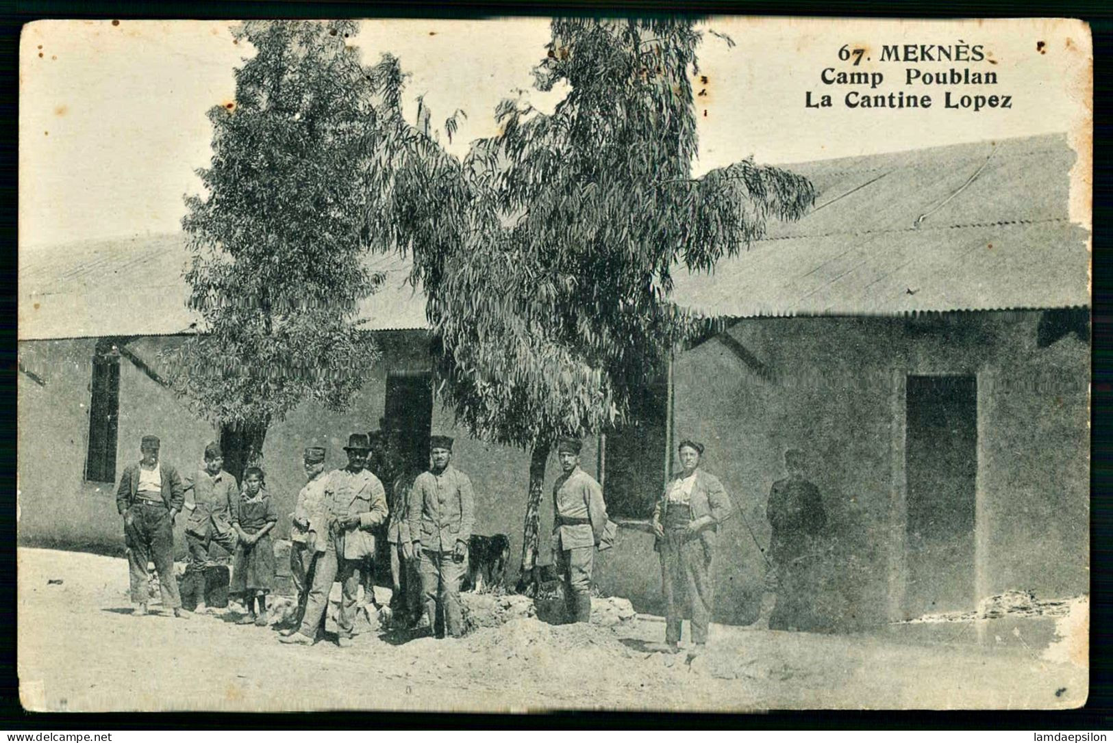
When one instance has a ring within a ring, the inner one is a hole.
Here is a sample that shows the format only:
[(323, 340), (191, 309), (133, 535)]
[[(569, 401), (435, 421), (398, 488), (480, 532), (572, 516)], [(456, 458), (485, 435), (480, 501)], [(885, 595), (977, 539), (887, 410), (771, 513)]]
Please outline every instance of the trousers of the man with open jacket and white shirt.
[(711, 554), (698, 536), (667, 528), (661, 543), (661, 586), (664, 593), (664, 640), (680, 642), (684, 614), (692, 620), (692, 642), (707, 642), (715, 606)]

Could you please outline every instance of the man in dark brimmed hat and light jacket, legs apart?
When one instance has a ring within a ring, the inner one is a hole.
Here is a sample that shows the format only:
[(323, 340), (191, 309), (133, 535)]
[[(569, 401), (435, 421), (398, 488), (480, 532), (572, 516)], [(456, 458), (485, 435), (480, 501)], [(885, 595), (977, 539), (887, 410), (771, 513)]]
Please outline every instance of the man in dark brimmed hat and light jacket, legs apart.
[(322, 519), (328, 536), (316, 545), (317, 564), (313, 585), (305, 605), (301, 628), (279, 642), (312, 645), (328, 610), (333, 582), (339, 581), (342, 598), (337, 644), (352, 644), (352, 625), (359, 591), (359, 566), (366, 555), (375, 554), (375, 537), (371, 531), (386, 521), (386, 493), (383, 484), (367, 468), (371, 444), (366, 434), (352, 434), (344, 447), (348, 464), (328, 473)]

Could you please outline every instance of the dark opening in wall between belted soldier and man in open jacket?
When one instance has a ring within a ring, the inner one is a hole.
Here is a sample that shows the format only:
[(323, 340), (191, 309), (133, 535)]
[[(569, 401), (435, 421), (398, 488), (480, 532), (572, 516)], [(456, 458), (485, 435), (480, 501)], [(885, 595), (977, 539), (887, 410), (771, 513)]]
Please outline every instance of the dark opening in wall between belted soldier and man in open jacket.
[(664, 487), (669, 386), (662, 380), (630, 400), (631, 420), (607, 434), (603, 489), (612, 517), (649, 518)]

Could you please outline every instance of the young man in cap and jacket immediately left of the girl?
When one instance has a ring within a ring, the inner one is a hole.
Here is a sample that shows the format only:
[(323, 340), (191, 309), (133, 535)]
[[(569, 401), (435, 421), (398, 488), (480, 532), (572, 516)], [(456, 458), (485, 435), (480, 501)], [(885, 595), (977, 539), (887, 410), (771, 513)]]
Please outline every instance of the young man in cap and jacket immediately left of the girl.
[(203, 614), (206, 612), (205, 569), (216, 564), (213, 545), (219, 545), (229, 555), (236, 551), (236, 532), (229, 521), (229, 509), (239, 498), (239, 486), (236, 478), (224, 470), (224, 454), (219, 444), (213, 442), (205, 447), (200, 469), (186, 479), (185, 492), (193, 493), (193, 503), (185, 503), (189, 511), (189, 521), (186, 522), (189, 564), (185, 579), (187, 585), (194, 586), (194, 595), (197, 596), (195, 611)]

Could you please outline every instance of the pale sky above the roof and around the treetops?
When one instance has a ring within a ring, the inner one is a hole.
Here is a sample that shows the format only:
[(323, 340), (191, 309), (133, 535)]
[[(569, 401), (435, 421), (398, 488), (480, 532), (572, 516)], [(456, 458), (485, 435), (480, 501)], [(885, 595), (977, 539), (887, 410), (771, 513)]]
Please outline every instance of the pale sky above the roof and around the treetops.
[[(234, 69), (252, 53), (233, 42), (228, 28), (227, 21), (107, 20), (24, 28), (21, 251), (179, 229), (183, 197), (199, 191), (195, 170), (209, 160), (206, 111), (234, 99)], [(701, 28), (737, 44), (706, 34), (699, 50), (708, 82), (700, 82), (706, 115), (698, 117), (697, 175), (750, 155), (759, 162), (799, 162), (1068, 131), (1087, 116), (1087, 91), (1078, 81), (1089, 70), (1090, 42), (1076, 22), (716, 18)], [(447, 145), (462, 156), (470, 140), (494, 132), (493, 110), (502, 98), (522, 91), (539, 109), (552, 110), (564, 95), (532, 89), (530, 70), (548, 39), (545, 19), (374, 20), (363, 23), (353, 43), (368, 62), (384, 51), (400, 57), (411, 76), (411, 117), (420, 95), (434, 122), (457, 108), (466, 111)], [(808, 90), (834, 92), (819, 76), (841, 65), (844, 43), (959, 40), (992, 52), (1001, 92), (1013, 97), (1011, 110), (804, 107)]]

